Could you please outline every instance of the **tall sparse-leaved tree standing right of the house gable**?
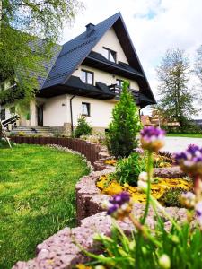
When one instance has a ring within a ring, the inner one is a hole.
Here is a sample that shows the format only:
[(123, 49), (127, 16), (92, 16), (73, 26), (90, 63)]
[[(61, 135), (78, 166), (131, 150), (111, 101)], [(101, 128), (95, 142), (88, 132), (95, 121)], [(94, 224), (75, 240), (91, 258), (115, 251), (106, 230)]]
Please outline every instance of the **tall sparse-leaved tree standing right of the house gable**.
[(161, 82), (157, 107), (168, 120), (177, 120), (183, 131), (189, 118), (197, 112), (193, 105), (194, 91), (189, 88), (189, 58), (180, 49), (167, 50), (157, 74)]

